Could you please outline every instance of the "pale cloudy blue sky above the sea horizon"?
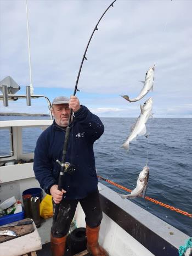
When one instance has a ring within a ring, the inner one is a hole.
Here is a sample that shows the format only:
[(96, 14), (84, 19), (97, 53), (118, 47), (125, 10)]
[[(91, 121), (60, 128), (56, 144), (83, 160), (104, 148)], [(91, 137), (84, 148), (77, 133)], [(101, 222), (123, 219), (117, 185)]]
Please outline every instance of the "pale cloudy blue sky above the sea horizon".
[[(112, 1), (28, 0), (34, 94), (50, 100), (74, 92), (82, 55), (94, 26)], [(192, 1), (117, 0), (89, 45), (77, 92), (99, 116), (137, 117), (153, 97), (155, 117), (192, 117)], [(25, 92), (30, 84), (24, 0), (0, 0), (0, 80), (12, 76)], [(155, 64), (154, 92), (139, 94)], [(46, 102), (0, 102), (0, 112), (48, 113)]]

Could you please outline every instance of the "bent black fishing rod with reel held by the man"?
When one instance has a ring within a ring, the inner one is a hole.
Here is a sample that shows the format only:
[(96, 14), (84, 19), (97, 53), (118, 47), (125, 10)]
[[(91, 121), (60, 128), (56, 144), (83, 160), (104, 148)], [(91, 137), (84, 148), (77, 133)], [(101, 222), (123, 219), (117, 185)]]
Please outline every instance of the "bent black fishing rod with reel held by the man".
[[(82, 69), (82, 66), (83, 66), (83, 62), (84, 60), (87, 60), (87, 57), (86, 57), (86, 53), (87, 53), (87, 49), (89, 47), (89, 43), (91, 42), (92, 40), (92, 37), (93, 37), (93, 34), (96, 30), (98, 30), (98, 24), (100, 23), (101, 19), (103, 18), (103, 16), (105, 15), (105, 13), (109, 10), (110, 7), (114, 7), (114, 3), (116, 2), (113, 1), (109, 7), (105, 10), (105, 12), (103, 13), (103, 15), (100, 17), (98, 23), (95, 25), (94, 29), (93, 29), (93, 32), (92, 32), (92, 35), (91, 37), (89, 38), (89, 41), (87, 43), (87, 46), (86, 46), (86, 49), (84, 51), (84, 54), (83, 54), (83, 58), (81, 60), (81, 65), (80, 65), (80, 69), (78, 70), (78, 75), (77, 75), (77, 80), (76, 80), (76, 84), (75, 84), (75, 90), (74, 90), (74, 96), (76, 94), (76, 92), (80, 91), (78, 90), (77, 88), (77, 85), (78, 85), (78, 80), (80, 78), (80, 74), (81, 74), (81, 69)], [(66, 153), (67, 153), (67, 147), (68, 147), (68, 141), (69, 141), (69, 134), (70, 134), (70, 124), (71, 124), (71, 118), (72, 118), (72, 109), (70, 110), (70, 118), (69, 118), (69, 124), (67, 125), (66, 127), (66, 131), (65, 131), (65, 140), (64, 140), (64, 147), (63, 147), (63, 153), (62, 153), (62, 159), (61, 159), (61, 162), (59, 160), (57, 160), (57, 162), (59, 163), (61, 169), (60, 169), (60, 173), (59, 173), (59, 181), (58, 181), (58, 190), (62, 190), (62, 179), (63, 179), (63, 175), (65, 172), (68, 172), (68, 173), (72, 173), (73, 171), (75, 171), (75, 166), (73, 164), (70, 164), (70, 163), (66, 163), (65, 160), (66, 160)], [(55, 210), (54, 210), (54, 220), (56, 221), (57, 220), (57, 215), (59, 213), (59, 204), (55, 204)]]

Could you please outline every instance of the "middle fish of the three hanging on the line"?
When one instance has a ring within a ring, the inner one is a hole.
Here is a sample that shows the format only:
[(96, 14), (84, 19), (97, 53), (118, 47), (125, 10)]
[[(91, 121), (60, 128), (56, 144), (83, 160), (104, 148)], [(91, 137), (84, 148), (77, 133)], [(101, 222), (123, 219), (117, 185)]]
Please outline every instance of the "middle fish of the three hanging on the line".
[(141, 113), (140, 113), (136, 123), (131, 126), (131, 133), (127, 137), (126, 142), (124, 142), (122, 144), (123, 148), (128, 150), (129, 149), (129, 143), (131, 141), (137, 140), (137, 136), (141, 136), (141, 135), (146, 134), (145, 124), (148, 121), (149, 116), (152, 116), (151, 115), (152, 106), (153, 106), (153, 98), (151, 98), (151, 97), (145, 101), (143, 106), (140, 105)]

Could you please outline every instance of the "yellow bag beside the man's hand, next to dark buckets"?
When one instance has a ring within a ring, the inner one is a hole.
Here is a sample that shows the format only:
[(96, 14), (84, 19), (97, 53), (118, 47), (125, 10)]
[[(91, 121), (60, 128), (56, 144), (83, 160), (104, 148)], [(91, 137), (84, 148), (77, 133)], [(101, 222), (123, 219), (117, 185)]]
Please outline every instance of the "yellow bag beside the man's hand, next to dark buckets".
[(40, 203), (40, 216), (43, 219), (48, 219), (53, 216), (52, 196), (49, 194), (46, 194)]

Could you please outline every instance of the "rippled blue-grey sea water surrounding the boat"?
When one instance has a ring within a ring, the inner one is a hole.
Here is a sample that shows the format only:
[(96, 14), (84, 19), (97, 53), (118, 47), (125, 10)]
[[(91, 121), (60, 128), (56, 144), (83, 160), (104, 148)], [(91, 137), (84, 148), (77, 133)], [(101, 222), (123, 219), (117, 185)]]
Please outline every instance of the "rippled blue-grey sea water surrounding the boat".
[[(0, 116), (0, 120), (39, 119), (41, 117)], [(48, 119), (48, 117), (43, 117)], [(121, 148), (134, 123), (134, 118), (101, 118), (105, 132), (95, 142), (95, 160), (98, 175), (131, 190), (136, 185), (139, 172), (147, 163), (150, 168), (148, 189), (145, 196), (192, 213), (192, 119), (149, 119), (146, 124), (148, 138), (138, 137), (130, 144), (129, 151)], [(5, 131), (0, 130), (0, 155), (6, 151)], [(35, 147), (39, 130), (25, 131), (24, 149)], [(101, 181), (112, 190), (120, 190)], [(125, 199), (127, 200), (127, 199)], [(192, 236), (192, 218), (146, 201), (131, 199), (135, 204), (165, 220), (180, 231)]]

